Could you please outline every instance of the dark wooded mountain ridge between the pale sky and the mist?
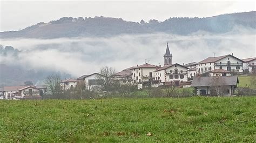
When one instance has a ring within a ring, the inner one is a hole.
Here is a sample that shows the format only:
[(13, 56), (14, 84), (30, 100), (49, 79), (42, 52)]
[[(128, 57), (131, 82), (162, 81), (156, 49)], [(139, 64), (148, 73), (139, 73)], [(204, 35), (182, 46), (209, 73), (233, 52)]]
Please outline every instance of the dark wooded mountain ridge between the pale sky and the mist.
[(38, 23), (20, 31), (0, 32), (0, 38), (106, 37), (120, 34), (153, 32), (188, 35), (197, 31), (225, 33), (234, 26), (256, 29), (256, 11), (225, 14), (207, 18), (169, 18), (164, 22), (127, 22), (122, 18), (63, 17), (49, 23)]

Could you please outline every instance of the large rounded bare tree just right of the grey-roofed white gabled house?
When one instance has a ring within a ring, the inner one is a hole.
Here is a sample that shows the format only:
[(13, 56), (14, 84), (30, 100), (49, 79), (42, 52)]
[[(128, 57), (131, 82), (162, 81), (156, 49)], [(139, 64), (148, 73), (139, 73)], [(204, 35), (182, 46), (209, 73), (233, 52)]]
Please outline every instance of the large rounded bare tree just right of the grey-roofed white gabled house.
[(100, 69), (99, 74), (97, 74), (96, 79), (99, 82), (100, 86), (102, 86), (102, 90), (104, 91), (111, 91), (113, 85), (116, 80), (114, 80), (113, 75), (116, 73), (112, 67), (105, 66)]

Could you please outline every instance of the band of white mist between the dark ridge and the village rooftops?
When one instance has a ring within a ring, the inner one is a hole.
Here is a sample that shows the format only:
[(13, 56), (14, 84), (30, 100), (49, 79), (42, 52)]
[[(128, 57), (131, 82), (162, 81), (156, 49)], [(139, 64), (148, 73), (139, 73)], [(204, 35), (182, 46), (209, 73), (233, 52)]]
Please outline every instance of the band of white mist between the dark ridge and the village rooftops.
[(213, 56), (213, 52), (216, 56), (234, 53), (238, 58), (247, 58), (256, 56), (255, 33), (254, 29), (237, 29), (219, 35), (197, 32), (188, 36), (152, 33), (107, 38), (2, 39), (0, 44), (21, 52), (18, 60), (9, 56), (1, 57), (0, 62), (63, 71), (78, 77), (97, 72), (105, 65), (120, 71), (143, 64), (145, 59), (150, 64), (163, 65), (167, 42), (173, 63), (199, 62)]

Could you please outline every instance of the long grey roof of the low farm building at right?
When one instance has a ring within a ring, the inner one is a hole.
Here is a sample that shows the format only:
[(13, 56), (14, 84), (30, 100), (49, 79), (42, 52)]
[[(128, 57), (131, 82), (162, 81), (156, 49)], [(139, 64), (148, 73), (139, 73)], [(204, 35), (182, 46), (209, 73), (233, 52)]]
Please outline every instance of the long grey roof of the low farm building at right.
[(198, 86), (219, 86), (219, 85), (237, 85), (238, 76), (221, 77), (194, 77), (192, 87)]

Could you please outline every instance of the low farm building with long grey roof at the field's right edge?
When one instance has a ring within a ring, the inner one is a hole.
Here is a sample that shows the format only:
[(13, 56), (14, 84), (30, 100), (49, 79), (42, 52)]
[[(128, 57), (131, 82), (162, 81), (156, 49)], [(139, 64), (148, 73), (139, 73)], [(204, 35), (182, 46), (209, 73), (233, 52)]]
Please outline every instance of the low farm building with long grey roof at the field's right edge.
[(220, 77), (195, 77), (192, 87), (197, 90), (197, 95), (203, 96), (231, 96), (239, 84), (238, 76)]

